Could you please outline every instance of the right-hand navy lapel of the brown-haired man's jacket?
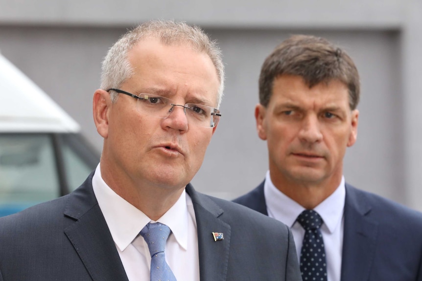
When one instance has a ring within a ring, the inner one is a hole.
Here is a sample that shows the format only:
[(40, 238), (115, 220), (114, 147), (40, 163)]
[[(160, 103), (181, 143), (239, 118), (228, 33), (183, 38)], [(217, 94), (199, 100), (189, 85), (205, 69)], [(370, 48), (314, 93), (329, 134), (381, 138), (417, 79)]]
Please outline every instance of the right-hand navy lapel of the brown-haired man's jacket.
[(341, 281), (366, 281), (375, 255), (378, 224), (365, 197), (346, 184)]

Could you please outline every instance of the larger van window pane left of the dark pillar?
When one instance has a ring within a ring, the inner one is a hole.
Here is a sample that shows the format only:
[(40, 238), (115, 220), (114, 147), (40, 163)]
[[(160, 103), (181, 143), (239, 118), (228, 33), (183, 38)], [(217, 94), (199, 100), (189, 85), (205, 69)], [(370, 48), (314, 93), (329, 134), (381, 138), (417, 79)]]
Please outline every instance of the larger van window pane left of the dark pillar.
[(47, 134), (0, 134), (0, 204), (22, 209), (47, 201), (59, 195), (58, 185)]

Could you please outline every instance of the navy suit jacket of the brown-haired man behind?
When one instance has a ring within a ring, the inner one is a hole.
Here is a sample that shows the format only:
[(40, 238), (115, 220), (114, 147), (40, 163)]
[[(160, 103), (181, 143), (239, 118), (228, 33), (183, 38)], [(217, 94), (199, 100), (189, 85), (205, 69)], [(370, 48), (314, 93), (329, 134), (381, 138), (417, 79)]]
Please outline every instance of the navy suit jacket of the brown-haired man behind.
[[(264, 182), (234, 202), (268, 215)], [(421, 265), (422, 214), (346, 184), (341, 281), (422, 281)]]

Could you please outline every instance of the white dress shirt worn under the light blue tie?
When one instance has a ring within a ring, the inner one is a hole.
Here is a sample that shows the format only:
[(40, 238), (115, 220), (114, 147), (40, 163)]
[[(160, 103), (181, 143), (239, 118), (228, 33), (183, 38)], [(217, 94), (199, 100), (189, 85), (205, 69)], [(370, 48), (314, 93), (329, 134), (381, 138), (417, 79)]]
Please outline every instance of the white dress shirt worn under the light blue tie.
[[(117, 195), (102, 179), (99, 164), (93, 177), (93, 189), (129, 281), (149, 280), (151, 256), (139, 233), (147, 223), (156, 221)], [(190, 196), (183, 191), (157, 222), (171, 230), (165, 244), (165, 259), (176, 279), (198, 281), (198, 237)]]

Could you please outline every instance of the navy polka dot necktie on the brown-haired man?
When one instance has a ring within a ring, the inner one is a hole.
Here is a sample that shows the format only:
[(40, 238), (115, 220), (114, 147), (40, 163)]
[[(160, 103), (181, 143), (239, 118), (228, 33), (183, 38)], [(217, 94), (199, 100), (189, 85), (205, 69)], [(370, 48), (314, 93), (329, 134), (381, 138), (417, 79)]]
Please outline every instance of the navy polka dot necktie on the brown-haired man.
[(324, 240), (320, 231), (321, 216), (313, 210), (303, 211), (297, 221), (305, 229), (301, 250), (301, 273), (303, 281), (327, 281), (327, 262)]

